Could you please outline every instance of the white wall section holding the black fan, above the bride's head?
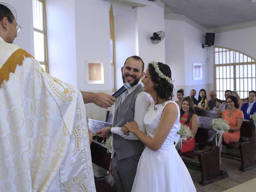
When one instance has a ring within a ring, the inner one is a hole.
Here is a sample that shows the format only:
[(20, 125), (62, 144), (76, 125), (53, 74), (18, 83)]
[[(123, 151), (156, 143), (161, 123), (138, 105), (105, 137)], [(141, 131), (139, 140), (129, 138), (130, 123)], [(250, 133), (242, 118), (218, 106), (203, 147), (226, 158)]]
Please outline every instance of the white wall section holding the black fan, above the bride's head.
[(138, 54), (145, 68), (152, 60), (165, 63), (165, 41), (152, 44), (150, 36), (164, 31), (164, 8), (157, 4), (135, 8), (137, 11)]

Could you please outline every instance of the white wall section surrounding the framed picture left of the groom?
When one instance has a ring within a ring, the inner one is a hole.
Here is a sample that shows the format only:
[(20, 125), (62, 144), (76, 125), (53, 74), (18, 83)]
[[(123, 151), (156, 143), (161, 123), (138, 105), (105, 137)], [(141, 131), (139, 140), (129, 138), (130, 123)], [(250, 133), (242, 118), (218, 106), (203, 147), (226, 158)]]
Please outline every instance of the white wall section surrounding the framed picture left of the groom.
[[(76, 0), (76, 62), (80, 90), (110, 90), (110, 2)], [(103, 61), (104, 84), (86, 83), (86, 61)]]

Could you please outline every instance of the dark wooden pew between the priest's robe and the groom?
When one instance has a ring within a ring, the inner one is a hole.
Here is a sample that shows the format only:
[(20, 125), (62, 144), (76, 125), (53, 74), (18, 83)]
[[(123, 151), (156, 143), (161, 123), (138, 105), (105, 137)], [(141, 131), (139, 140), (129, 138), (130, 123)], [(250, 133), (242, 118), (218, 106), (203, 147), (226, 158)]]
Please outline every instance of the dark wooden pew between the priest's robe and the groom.
[[(93, 132), (105, 126), (112, 126), (112, 124), (109, 124), (107, 122), (88, 119), (88, 127), (89, 129), (92, 129)], [(102, 142), (97, 142), (96, 140), (92, 141), (91, 155), (92, 155), (92, 162), (94, 164), (106, 170), (109, 170), (111, 154), (107, 153), (107, 149), (106, 147), (102, 146)], [(117, 192), (115, 184), (114, 186), (111, 187), (106, 182), (106, 178), (109, 176), (109, 174), (110, 174), (109, 172), (106, 172), (106, 175), (102, 177), (98, 177), (98, 178), (94, 177), (97, 192), (105, 192), (105, 191)]]

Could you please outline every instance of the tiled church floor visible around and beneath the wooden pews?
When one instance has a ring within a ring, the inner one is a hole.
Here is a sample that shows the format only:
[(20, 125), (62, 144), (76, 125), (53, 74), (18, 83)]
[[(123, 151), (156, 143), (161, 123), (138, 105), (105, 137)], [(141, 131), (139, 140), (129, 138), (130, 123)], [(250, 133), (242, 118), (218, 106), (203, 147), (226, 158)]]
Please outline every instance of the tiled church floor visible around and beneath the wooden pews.
[[(199, 184), (199, 181), (201, 180), (200, 170), (194, 170), (194, 169), (188, 168), (188, 171), (190, 172), (190, 175), (192, 177), (192, 180), (194, 182), (197, 192), (224, 192), (229, 188), (232, 188), (248, 180), (256, 178), (256, 168), (253, 168), (246, 172), (242, 172), (239, 170), (240, 164), (241, 164), (240, 160), (234, 160), (226, 157), (222, 157), (221, 159), (222, 159), (221, 169), (228, 171), (229, 177), (224, 180), (220, 180), (212, 184), (208, 184), (206, 186), (202, 186)], [(194, 161), (198, 161), (198, 160), (194, 160)], [(94, 170), (94, 176), (96, 177), (104, 176), (107, 172), (107, 170), (104, 170), (103, 168), (100, 168), (95, 164), (93, 164), (93, 170)]]

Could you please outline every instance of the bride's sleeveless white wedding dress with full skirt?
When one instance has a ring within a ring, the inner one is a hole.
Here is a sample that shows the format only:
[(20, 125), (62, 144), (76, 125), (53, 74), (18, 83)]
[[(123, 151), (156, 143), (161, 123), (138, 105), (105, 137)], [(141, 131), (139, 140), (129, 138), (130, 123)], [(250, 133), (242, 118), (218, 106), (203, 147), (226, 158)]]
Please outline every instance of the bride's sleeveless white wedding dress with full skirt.
[[(147, 135), (151, 138), (156, 134), (164, 106), (158, 104), (154, 110), (154, 102), (144, 117)], [(132, 192), (196, 192), (191, 176), (174, 146), (174, 138), (180, 130), (180, 108), (176, 104), (178, 118), (162, 147), (153, 151), (146, 147), (140, 157)], [(172, 114), (170, 114), (172, 116)]]

